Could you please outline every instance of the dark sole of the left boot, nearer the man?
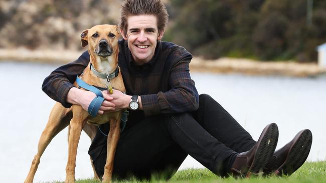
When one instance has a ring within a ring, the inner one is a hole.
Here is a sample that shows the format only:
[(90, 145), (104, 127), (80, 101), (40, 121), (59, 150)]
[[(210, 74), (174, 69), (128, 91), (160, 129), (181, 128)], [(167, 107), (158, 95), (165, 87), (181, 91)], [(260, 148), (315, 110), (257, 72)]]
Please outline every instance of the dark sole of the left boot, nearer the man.
[(278, 127), (275, 123), (267, 126), (267, 130), (262, 132), (263, 138), (256, 150), (254, 160), (248, 170), (247, 177), (251, 174), (258, 174), (263, 170), (269, 158), (275, 151), (278, 141)]

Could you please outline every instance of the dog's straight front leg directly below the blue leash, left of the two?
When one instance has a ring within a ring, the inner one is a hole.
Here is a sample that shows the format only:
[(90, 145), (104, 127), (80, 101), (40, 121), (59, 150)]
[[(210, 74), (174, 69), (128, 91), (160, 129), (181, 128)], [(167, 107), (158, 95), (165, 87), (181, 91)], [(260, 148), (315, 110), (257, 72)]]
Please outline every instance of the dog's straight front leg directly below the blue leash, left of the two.
[(70, 121), (68, 142), (68, 162), (66, 166), (66, 183), (75, 182), (77, 147), (81, 131), (86, 123), (88, 113), (79, 105), (73, 106), (73, 117)]

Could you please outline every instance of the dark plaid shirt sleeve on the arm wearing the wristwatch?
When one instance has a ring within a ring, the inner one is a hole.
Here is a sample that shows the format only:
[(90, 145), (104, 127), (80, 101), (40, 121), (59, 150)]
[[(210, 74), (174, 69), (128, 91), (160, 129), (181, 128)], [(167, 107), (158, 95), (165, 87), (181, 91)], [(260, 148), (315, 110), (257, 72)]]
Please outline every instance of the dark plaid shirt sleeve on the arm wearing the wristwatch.
[(190, 59), (184, 59), (173, 65), (169, 77), (171, 84), (169, 91), (140, 96), (146, 116), (190, 112), (198, 109), (199, 96), (195, 81), (190, 76), (189, 63)]

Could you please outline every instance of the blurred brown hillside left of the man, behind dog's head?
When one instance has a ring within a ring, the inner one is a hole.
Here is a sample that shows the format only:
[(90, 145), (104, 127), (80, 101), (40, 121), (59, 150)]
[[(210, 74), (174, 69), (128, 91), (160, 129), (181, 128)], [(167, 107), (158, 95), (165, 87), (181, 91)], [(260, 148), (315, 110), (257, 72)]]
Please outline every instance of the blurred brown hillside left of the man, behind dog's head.
[(121, 0), (1, 0), (0, 48), (80, 49), (80, 33), (117, 24)]

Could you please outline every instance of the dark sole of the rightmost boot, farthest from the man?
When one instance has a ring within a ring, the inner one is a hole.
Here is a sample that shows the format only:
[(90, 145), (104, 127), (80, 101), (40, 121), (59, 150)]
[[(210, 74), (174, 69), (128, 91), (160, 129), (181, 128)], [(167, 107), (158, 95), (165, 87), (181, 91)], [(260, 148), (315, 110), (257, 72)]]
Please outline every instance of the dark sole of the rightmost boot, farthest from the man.
[(292, 145), (284, 163), (274, 172), (278, 175), (291, 175), (307, 159), (312, 143), (312, 133), (304, 129)]

